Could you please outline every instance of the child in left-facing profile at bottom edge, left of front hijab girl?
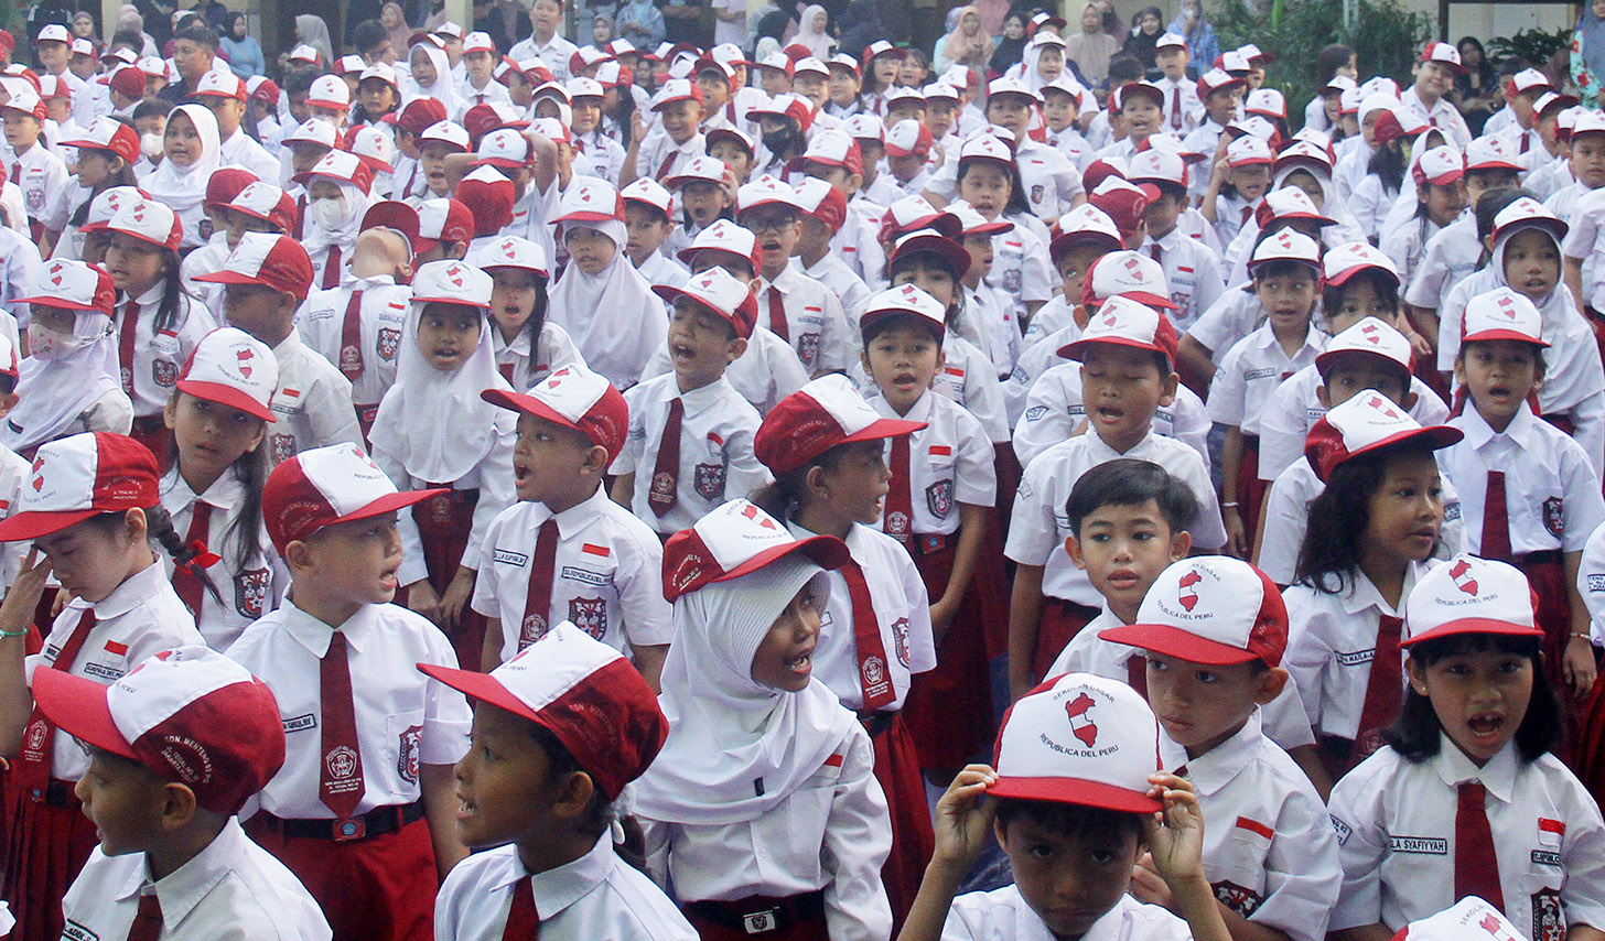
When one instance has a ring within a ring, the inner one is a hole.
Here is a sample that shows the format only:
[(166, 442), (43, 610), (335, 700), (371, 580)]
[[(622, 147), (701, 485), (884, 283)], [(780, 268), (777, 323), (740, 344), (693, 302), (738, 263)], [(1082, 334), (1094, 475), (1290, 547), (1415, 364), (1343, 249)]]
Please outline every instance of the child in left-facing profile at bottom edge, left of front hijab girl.
[(440, 886), (435, 938), (697, 938), (613, 846), (615, 802), (668, 734), (616, 651), (560, 624), (490, 676), (421, 668), (475, 699), (472, 745), (454, 768), (457, 837), (485, 850)]

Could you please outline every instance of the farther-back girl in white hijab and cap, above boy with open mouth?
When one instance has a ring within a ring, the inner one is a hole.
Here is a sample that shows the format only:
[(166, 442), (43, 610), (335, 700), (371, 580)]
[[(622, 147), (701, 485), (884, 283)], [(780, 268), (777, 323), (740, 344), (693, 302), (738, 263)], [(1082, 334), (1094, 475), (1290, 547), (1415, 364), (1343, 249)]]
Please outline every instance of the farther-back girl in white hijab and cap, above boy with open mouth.
[(624, 253), (624, 204), (605, 180), (576, 176), (554, 224), (568, 248), (568, 268), (551, 295), (551, 322), (568, 332), (586, 364), (620, 391), (664, 348), (669, 321), (652, 284)]

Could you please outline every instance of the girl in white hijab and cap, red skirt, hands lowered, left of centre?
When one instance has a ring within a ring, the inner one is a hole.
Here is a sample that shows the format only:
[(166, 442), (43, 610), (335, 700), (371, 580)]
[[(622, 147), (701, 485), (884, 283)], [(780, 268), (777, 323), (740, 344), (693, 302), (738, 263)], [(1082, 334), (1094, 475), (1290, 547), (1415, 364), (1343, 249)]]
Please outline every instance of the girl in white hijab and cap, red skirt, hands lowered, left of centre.
[[(491, 353), (491, 276), (457, 260), (430, 261), (412, 279), (396, 382), (369, 434), (374, 463), (412, 489), (440, 489), (401, 513), (406, 604), (440, 625), (457, 662), (478, 664), (485, 616), (467, 606), (491, 519), (512, 507), (517, 412), (482, 391), (512, 391)], [(661, 309), (661, 308), (660, 308)]]

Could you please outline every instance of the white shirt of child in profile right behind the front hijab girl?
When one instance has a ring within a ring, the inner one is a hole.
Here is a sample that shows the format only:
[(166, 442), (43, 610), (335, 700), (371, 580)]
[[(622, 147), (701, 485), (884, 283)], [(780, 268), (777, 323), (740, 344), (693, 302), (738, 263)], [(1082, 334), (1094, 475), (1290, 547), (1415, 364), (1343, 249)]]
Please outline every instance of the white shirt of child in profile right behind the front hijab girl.
[[(796, 523), (788, 523), (791, 535), (815, 535)], [(870, 588), (870, 604), (881, 628), (886, 649), (886, 676), (894, 699), (884, 712), (902, 709), (908, 683), (915, 673), (936, 667), (936, 641), (931, 636), (931, 600), (913, 558), (900, 542), (880, 529), (854, 523), (847, 531), (847, 550), (863, 569)], [(814, 648), (814, 676), (830, 686), (847, 709), (863, 709), (859, 681), (859, 644), (852, 633), (852, 595), (841, 572), (825, 572), (830, 579), (830, 604), (820, 611), (819, 643)]]

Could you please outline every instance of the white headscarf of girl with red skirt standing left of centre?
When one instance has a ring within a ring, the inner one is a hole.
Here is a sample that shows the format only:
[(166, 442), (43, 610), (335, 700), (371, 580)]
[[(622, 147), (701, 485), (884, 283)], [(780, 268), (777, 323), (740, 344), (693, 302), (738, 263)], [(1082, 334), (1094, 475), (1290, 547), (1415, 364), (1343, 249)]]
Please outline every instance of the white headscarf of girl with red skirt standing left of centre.
[[(379, 402), (368, 438), (414, 478), (453, 483), (485, 460), (501, 436), (512, 434), (518, 415), (480, 398), (485, 390), (512, 390), (496, 370), (490, 317), (480, 313), (480, 337), (462, 365), (441, 372), (417, 348), (425, 306), (414, 303), (401, 329), (396, 382)], [(491, 428), (496, 433), (488, 434)]]

